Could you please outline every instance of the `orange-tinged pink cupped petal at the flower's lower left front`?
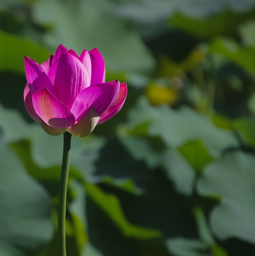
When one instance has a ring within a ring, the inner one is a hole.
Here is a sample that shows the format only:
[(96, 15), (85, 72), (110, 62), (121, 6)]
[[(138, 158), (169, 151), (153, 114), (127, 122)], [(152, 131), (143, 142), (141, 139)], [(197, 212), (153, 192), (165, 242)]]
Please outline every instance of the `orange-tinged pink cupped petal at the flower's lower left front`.
[(34, 92), (32, 102), (36, 114), (49, 126), (64, 129), (74, 125), (72, 112), (46, 88)]

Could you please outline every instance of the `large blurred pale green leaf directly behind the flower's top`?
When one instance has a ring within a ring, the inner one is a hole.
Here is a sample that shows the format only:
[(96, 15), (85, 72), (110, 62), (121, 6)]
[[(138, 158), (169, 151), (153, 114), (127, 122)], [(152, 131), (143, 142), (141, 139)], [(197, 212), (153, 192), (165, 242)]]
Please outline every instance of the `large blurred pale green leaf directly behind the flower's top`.
[(40, 0), (33, 16), (40, 24), (52, 25), (44, 41), (54, 48), (60, 42), (79, 53), (97, 47), (110, 72), (148, 72), (154, 66), (153, 58), (138, 32), (114, 10), (113, 1)]

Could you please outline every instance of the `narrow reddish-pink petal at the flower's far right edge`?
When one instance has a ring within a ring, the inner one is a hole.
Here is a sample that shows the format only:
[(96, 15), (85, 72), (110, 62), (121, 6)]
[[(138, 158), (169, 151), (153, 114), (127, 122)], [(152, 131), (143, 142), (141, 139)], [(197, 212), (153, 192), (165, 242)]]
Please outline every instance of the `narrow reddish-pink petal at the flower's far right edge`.
[(127, 92), (128, 90), (127, 90), (126, 82), (124, 82), (123, 84), (120, 84), (120, 92), (115, 102), (110, 106), (110, 108), (108, 108), (108, 110), (106, 110), (106, 112), (102, 114), (102, 116), (100, 116), (98, 124), (102, 124), (106, 122), (107, 120), (115, 116), (120, 111), (120, 109), (122, 108), (126, 100)]

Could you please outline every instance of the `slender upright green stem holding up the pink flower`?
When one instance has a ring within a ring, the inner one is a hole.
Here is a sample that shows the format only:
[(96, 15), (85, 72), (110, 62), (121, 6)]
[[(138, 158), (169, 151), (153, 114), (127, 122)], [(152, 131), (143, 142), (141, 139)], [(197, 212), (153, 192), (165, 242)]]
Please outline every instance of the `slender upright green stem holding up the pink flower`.
[(58, 202), (58, 248), (59, 256), (66, 256), (66, 193), (68, 172), (70, 165), (72, 134), (64, 132), (63, 159), (60, 176), (59, 202)]

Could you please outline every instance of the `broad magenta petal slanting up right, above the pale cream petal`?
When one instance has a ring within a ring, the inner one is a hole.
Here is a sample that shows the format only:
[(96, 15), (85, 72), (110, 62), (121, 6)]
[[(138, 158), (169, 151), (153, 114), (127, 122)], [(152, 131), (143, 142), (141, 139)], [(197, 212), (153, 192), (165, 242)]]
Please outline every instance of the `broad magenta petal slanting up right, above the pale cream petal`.
[(103, 114), (116, 100), (120, 90), (118, 80), (96, 84), (84, 89), (76, 98), (72, 113), (76, 122), (93, 106), (99, 115)]

